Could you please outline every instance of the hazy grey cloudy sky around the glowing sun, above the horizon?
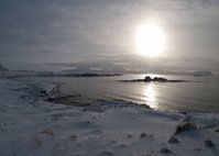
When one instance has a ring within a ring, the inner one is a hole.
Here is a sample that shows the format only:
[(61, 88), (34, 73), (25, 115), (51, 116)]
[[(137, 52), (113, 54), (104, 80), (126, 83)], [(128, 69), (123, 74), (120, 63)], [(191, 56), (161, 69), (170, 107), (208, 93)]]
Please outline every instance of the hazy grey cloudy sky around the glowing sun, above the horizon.
[[(0, 63), (11, 69), (216, 70), (218, 0), (0, 0)], [(135, 48), (138, 27), (165, 34), (161, 55)]]

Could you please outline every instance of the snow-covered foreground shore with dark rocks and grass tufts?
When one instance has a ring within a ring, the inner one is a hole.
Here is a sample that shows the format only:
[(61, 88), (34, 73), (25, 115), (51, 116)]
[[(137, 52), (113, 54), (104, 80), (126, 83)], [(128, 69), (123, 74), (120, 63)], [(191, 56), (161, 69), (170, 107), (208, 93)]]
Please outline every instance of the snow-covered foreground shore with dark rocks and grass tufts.
[(56, 87), (0, 79), (0, 156), (219, 155), (219, 114), (46, 101)]

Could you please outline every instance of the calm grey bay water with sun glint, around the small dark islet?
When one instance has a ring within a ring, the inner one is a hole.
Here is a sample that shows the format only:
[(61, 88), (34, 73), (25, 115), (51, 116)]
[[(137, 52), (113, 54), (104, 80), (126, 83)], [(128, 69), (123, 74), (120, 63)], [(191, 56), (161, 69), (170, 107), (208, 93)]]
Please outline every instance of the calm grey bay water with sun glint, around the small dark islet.
[[(219, 112), (219, 77), (162, 76), (190, 82), (120, 82), (145, 75), (97, 78), (28, 78), (65, 82), (62, 91), (79, 93), (87, 100), (125, 100), (157, 110)], [(155, 76), (155, 75), (151, 75)]]

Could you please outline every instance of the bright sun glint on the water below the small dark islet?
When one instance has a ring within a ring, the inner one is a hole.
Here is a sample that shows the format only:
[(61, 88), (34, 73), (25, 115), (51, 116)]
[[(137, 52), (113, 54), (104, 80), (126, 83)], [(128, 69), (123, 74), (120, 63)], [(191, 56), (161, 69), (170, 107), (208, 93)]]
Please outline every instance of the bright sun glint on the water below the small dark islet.
[(150, 108), (157, 109), (157, 99), (156, 99), (156, 90), (154, 89), (154, 83), (149, 83), (145, 86), (144, 94), (145, 94), (145, 104)]

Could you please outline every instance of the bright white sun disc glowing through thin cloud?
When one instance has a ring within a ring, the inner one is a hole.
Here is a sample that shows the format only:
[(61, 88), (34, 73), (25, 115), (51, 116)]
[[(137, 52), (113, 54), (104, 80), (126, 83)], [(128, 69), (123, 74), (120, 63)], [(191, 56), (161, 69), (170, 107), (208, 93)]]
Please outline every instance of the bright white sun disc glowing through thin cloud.
[(136, 30), (136, 49), (146, 56), (154, 57), (161, 54), (164, 48), (164, 43), (165, 35), (163, 30), (154, 23), (141, 25)]

